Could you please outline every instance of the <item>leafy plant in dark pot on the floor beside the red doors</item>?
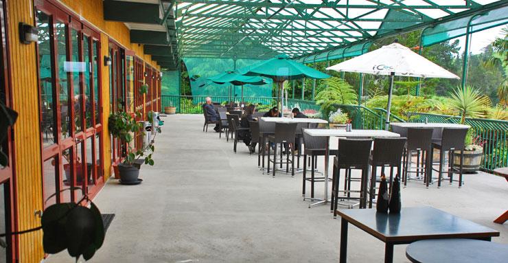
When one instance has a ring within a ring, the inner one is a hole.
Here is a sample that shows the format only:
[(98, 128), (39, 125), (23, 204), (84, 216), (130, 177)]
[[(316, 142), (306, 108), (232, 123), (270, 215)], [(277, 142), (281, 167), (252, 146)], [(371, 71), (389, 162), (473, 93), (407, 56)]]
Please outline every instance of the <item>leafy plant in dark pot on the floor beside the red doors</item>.
[[(118, 172), (121, 183), (137, 183), (139, 182), (139, 169), (141, 163), (154, 165), (152, 153), (154, 152), (153, 140), (150, 144), (143, 146), (141, 149), (132, 148), (135, 133), (145, 133), (143, 130), (143, 123), (137, 122), (135, 116), (141, 117), (141, 113), (137, 111), (134, 114), (126, 113), (125, 111), (118, 111), (112, 113), (108, 118), (109, 133), (115, 138), (118, 138), (122, 144), (126, 146), (126, 157), (122, 163), (118, 165)], [(148, 116), (148, 122), (152, 122)], [(160, 133), (160, 128), (157, 128)]]

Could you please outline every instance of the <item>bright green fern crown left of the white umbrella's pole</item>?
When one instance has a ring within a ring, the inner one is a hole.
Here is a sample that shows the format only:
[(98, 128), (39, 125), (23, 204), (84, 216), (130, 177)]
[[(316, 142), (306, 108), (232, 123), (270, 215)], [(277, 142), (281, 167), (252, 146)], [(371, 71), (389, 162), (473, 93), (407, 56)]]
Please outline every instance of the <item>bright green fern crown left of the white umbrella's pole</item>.
[(335, 111), (337, 104), (356, 104), (358, 95), (353, 87), (342, 78), (327, 78), (319, 84), (321, 91), (316, 95), (316, 104), (321, 106), (323, 115)]

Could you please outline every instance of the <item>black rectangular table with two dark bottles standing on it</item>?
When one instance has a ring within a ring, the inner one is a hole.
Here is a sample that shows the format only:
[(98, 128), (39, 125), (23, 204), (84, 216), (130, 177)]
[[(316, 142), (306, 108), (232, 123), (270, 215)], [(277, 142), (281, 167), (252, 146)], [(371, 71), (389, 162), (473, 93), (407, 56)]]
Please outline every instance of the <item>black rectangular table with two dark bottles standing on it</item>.
[(384, 262), (393, 262), (393, 245), (437, 238), (474, 238), (490, 241), (499, 232), (433, 207), (403, 207), (400, 214), (376, 209), (339, 209), (340, 262), (347, 261), (347, 225), (351, 223), (385, 243)]

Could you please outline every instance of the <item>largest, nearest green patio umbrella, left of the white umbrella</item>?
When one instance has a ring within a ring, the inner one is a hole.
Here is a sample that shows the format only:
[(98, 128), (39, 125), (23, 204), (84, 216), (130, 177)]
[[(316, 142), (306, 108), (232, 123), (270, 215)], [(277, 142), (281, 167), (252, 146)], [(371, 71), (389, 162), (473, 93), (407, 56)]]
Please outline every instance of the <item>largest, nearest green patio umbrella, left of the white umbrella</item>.
[[(263, 76), (273, 79), (279, 84), (277, 91), (277, 106), (279, 106), (282, 83), (286, 80), (298, 80), (301, 78), (330, 78), (327, 74), (307, 67), (299, 62), (290, 60), (286, 54), (279, 54), (275, 58), (264, 60), (255, 65), (239, 69), (244, 76)], [(282, 107), (281, 107), (282, 108)]]

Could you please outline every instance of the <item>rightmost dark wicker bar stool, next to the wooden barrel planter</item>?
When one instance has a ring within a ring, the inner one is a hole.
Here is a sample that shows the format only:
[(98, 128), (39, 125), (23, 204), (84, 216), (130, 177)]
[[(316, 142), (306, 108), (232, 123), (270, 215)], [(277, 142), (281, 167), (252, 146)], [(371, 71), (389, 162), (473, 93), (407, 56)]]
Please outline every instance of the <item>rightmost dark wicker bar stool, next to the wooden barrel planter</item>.
[[(453, 182), (453, 174), (457, 173), (453, 168), (453, 154), (455, 151), (461, 152), (461, 163), (459, 164), (459, 188), (462, 187), (462, 173), (463, 173), (463, 162), (464, 162), (464, 139), (467, 135), (467, 130), (469, 128), (443, 128), (443, 135), (441, 136), (441, 141), (432, 142), (432, 155), (434, 156), (434, 149), (439, 149), (439, 170), (435, 170), (439, 172), (439, 177), (437, 181), (437, 187), (441, 187), (441, 179), (443, 178), (443, 173), (447, 173), (450, 176), (450, 185)], [(443, 172), (443, 165), (445, 162), (445, 154), (444, 152), (448, 151), (450, 157), (448, 158), (448, 171)], [(432, 176), (429, 176), (429, 180), (432, 179)]]

